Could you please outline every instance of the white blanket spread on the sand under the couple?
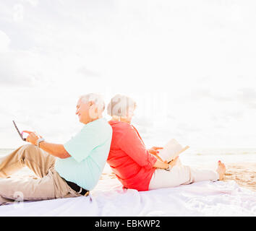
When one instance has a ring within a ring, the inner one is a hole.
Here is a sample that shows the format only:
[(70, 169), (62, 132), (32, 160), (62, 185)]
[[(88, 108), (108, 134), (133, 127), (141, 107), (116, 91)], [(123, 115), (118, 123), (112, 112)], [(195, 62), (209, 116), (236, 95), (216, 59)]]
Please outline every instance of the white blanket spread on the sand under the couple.
[(0, 216), (256, 216), (256, 193), (234, 181), (138, 192), (116, 178), (90, 196), (0, 206)]

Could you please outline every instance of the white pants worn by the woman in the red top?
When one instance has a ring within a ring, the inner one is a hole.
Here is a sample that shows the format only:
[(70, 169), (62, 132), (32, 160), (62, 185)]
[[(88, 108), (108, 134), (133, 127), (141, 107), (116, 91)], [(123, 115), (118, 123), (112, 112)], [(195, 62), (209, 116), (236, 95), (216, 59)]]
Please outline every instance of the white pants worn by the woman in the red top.
[(179, 163), (172, 167), (170, 171), (157, 168), (152, 175), (148, 190), (187, 185), (202, 180), (216, 181), (218, 179), (219, 175), (214, 170), (199, 170)]

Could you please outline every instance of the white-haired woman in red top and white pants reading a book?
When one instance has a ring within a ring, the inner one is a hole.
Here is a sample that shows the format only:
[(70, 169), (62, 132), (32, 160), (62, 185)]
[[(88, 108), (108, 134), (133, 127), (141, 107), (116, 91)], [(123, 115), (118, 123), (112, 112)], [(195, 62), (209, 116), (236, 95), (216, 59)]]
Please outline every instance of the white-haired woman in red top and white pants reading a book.
[(219, 161), (214, 170), (198, 170), (184, 166), (179, 157), (171, 163), (160, 160), (158, 147), (146, 149), (137, 129), (132, 126), (136, 103), (124, 95), (116, 95), (108, 104), (108, 123), (113, 129), (108, 165), (125, 188), (148, 191), (189, 184), (201, 180), (223, 180), (225, 165)]

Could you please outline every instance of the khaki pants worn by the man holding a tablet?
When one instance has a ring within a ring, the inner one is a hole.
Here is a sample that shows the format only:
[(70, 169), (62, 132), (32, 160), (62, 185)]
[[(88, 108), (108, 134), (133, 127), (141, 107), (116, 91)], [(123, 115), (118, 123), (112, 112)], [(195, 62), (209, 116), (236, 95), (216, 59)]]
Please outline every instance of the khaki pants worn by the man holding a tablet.
[[(0, 205), (16, 201), (82, 196), (72, 190), (54, 169), (55, 157), (33, 144), (24, 145), (0, 158)], [(10, 178), (22, 167), (29, 167), (38, 178)]]

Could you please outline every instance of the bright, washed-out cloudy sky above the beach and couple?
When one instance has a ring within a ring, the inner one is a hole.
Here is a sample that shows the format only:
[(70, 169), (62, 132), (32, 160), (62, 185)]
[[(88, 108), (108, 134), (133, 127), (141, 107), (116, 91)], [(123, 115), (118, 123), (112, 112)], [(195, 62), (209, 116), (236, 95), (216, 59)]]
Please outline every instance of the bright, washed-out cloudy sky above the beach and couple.
[[(256, 2), (0, 1), (0, 148), (64, 144), (80, 95), (137, 101), (147, 145), (256, 147)], [(106, 115), (109, 120), (109, 116)]]

